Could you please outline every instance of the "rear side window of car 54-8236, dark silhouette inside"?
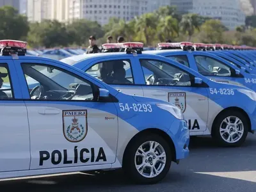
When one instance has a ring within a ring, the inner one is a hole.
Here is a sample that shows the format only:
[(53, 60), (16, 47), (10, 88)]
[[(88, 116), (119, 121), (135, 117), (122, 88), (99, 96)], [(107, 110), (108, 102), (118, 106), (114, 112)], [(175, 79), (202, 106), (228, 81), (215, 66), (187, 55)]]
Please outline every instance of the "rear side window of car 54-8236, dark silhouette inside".
[(86, 70), (107, 84), (134, 84), (130, 60), (111, 60), (96, 63)]

